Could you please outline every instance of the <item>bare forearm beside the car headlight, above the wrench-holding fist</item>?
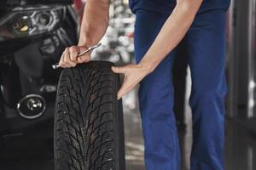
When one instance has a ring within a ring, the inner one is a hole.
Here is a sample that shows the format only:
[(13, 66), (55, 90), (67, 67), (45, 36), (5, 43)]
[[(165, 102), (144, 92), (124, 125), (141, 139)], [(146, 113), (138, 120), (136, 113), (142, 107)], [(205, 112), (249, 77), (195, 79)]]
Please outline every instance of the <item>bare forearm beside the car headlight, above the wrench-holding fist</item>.
[(79, 46), (99, 42), (108, 28), (110, 0), (88, 0), (79, 35)]

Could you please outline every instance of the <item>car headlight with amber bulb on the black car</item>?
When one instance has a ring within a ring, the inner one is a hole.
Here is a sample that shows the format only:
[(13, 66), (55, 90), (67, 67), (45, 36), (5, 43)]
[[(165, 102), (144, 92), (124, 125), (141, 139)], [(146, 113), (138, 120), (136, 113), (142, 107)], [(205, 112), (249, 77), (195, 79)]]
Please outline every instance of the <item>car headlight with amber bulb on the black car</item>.
[(31, 37), (55, 29), (64, 7), (15, 8), (0, 17), (0, 42)]

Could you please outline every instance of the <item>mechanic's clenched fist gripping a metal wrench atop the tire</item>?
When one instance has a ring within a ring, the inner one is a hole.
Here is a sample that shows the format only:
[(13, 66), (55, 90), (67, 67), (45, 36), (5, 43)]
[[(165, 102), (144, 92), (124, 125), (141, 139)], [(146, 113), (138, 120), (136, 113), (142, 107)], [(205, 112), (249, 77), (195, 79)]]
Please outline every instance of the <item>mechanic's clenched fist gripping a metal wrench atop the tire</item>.
[(78, 57), (79, 53), (86, 50), (84, 46), (72, 46), (64, 50), (59, 61), (59, 65), (62, 68), (74, 67), (79, 63), (85, 63), (90, 61), (90, 52)]

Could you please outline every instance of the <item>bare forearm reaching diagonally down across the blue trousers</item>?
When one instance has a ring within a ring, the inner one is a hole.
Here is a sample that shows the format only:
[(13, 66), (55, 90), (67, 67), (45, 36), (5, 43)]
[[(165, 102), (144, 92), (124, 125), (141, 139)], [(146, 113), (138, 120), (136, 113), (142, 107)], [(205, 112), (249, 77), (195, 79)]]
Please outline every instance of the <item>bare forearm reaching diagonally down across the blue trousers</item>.
[(195, 3), (177, 3), (176, 8), (173, 9), (172, 14), (141, 60), (140, 64), (147, 65), (150, 71), (154, 71), (154, 68), (177, 46), (189, 30), (202, 0), (191, 1)]

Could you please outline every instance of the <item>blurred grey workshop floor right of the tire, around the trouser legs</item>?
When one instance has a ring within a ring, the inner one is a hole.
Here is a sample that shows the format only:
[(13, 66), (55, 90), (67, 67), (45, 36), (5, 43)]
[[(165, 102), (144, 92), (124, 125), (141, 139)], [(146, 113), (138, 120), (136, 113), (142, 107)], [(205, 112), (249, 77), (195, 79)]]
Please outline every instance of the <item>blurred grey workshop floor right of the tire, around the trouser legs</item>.
[[(143, 137), (139, 111), (125, 108), (125, 149), (127, 170), (145, 170), (143, 162)], [(186, 107), (186, 124), (179, 131), (182, 152), (182, 170), (189, 170), (189, 155), (192, 144), (191, 111)], [(256, 136), (247, 129), (226, 119), (225, 127), (225, 169), (256, 169)]]

